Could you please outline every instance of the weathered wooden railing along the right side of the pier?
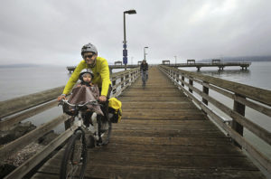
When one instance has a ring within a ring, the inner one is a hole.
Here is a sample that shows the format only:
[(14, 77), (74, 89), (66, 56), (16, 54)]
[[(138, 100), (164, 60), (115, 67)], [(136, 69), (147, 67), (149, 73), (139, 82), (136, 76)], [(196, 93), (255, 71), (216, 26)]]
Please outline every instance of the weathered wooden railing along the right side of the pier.
[[(237, 146), (245, 149), (249, 155), (257, 160), (266, 170), (271, 173), (271, 161), (266, 155), (261, 153), (256, 146), (248, 142), (243, 137), (243, 128), (247, 128), (257, 137), (271, 145), (271, 133), (264, 127), (260, 127), (251, 119), (245, 117), (246, 107), (265, 115), (271, 119), (271, 91), (259, 89), (229, 80), (201, 75), (199, 73), (182, 71), (173, 67), (161, 65), (159, 69), (163, 71), (179, 89), (192, 99), (211, 119), (215, 121), (229, 136), (237, 143)], [(201, 88), (195, 87), (195, 83)], [(232, 99), (233, 108), (229, 108), (218, 99), (209, 95), (209, 90), (213, 90), (220, 95)], [(195, 95), (196, 93), (196, 95)], [(201, 99), (198, 97), (200, 96)], [(220, 109), (230, 120), (225, 121), (219, 115), (219, 111), (210, 107)]]

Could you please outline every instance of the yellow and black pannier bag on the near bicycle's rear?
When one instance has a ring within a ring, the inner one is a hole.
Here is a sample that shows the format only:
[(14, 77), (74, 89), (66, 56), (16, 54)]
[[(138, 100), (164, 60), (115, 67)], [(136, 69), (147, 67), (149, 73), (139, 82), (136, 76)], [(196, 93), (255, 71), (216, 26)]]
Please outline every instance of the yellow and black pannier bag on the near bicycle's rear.
[(121, 101), (116, 98), (111, 98), (108, 100), (109, 100), (108, 104), (109, 118), (111, 122), (117, 123), (121, 120), (122, 115)]

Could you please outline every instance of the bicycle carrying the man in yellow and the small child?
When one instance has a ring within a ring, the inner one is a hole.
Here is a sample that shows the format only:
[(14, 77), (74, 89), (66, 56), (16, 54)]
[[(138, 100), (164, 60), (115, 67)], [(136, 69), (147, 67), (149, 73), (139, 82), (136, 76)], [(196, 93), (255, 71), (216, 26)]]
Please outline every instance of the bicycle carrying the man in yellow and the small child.
[[(109, 120), (108, 129), (106, 131), (102, 131), (101, 117), (98, 116), (96, 112), (92, 112), (91, 114), (91, 111), (88, 111), (87, 105), (101, 105), (98, 104), (97, 100), (90, 100), (82, 105), (73, 105), (70, 104), (68, 100), (62, 99), (60, 105), (68, 105), (71, 107), (70, 113), (78, 119), (77, 128), (70, 137), (61, 161), (60, 178), (83, 178), (88, 157), (86, 133), (90, 133), (90, 147), (107, 145), (111, 136), (111, 122)], [(88, 123), (89, 116), (91, 116), (92, 124)], [(86, 125), (89, 125), (89, 127)]]

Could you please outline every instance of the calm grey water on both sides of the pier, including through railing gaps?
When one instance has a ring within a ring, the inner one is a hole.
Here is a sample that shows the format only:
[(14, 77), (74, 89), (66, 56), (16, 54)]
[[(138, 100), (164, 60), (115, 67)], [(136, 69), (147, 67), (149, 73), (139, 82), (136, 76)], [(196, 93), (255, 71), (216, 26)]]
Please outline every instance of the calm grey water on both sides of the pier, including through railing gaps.
[[(271, 90), (271, 61), (252, 62), (248, 71), (240, 71), (239, 67), (226, 67), (224, 71), (218, 68), (201, 68), (201, 73), (224, 80), (232, 80), (238, 83), (247, 84), (257, 88)], [(195, 71), (196, 68), (182, 68), (185, 71)], [(119, 70), (118, 70), (119, 71)], [(116, 71), (113, 71), (116, 72)], [(29, 67), (29, 68), (0, 68), (0, 101), (14, 99), (45, 89), (52, 89), (63, 86), (70, 78), (70, 73), (63, 67)], [(197, 86), (195, 84), (195, 86)], [(216, 92), (210, 90), (210, 96), (220, 99), (224, 104), (232, 108), (233, 101), (223, 98)], [(52, 118), (61, 115), (61, 107), (51, 108), (39, 115), (29, 118), (34, 125), (39, 126)], [(222, 116), (223, 113), (221, 113)], [(257, 123), (266, 130), (271, 131), (270, 118), (260, 115), (257, 112), (246, 109), (246, 117)], [(227, 118), (225, 116), (225, 118)], [(55, 128), (56, 131), (63, 130), (63, 126)], [(245, 130), (244, 136), (259, 147), (268, 157), (271, 157), (271, 148), (262, 142), (258, 137)]]

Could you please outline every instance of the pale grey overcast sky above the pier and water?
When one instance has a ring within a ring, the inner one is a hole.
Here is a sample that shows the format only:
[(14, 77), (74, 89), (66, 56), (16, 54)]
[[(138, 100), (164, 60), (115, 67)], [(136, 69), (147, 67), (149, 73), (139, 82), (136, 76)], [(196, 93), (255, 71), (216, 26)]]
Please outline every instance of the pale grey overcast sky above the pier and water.
[(271, 54), (270, 0), (0, 0), (0, 61), (77, 65), (91, 42), (109, 63)]

